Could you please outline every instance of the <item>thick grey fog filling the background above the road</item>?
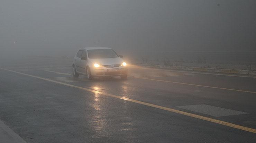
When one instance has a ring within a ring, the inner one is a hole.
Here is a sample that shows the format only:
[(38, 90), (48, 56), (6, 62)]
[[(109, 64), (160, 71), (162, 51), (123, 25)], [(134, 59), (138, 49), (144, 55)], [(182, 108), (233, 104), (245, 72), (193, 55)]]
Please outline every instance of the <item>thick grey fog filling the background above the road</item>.
[(0, 1), (1, 57), (72, 57), (91, 46), (138, 60), (254, 64), (256, 1)]

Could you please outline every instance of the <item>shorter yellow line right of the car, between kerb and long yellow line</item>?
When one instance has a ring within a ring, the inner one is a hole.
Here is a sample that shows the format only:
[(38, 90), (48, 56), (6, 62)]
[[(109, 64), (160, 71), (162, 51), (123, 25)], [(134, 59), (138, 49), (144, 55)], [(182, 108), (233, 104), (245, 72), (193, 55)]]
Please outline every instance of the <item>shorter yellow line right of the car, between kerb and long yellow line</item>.
[(200, 87), (209, 87), (209, 88), (225, 89), (225, 90), (232, 90), (232, 91), (248, 92), (248, 93), (256, 94), (255, 91), (246, 91), (246, 90), (238, 90), (238, 89), (230, 89), (230, 88), (221, 88), (221, 87), (214, 87), (214, 86), (187, 84), (187, 83), (179, 83), (179, 82), (175, 82), (175, 81), (158, 80), (158, 79), (150, 79), (150, 78), (143, 78), (143, 77), (135, 77), (135, 78), (147, 79), (147, 80), (154, 80), (154, 81), (162, 81), (162, 82), (166, 82), (166, 83), (174, 83), (174, 84), (182, 84), (182, 85), (192, 85), (192, 86), (200, 86)]

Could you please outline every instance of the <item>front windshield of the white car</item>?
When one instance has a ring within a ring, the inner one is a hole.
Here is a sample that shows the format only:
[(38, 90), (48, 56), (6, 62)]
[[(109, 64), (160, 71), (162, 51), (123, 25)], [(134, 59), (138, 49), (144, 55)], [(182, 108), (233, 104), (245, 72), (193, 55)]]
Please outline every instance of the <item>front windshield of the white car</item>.
[(116, 58), (118, 55), (112, 49), (87, 50), (89, 58)]

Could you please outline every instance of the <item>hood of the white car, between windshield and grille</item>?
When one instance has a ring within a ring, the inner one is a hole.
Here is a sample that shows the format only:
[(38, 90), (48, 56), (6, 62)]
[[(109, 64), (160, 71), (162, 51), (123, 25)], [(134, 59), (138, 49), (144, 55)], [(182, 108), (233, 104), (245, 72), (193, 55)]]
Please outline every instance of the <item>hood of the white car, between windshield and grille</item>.
[(101, 65), (112, 65), (112, 64), (121, 64), (124, 60), (120, 57), (117, 58), (91, 58), (91, 62), (101, 64)]

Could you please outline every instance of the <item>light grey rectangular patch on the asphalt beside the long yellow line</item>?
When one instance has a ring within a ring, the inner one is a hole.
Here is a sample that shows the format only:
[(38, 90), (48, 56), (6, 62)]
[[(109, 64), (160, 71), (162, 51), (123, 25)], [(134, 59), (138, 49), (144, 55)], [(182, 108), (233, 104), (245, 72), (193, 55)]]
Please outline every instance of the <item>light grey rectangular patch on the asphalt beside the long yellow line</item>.
[(222, 117), (222, 116), (230, 116), (230, 115), (241, 115), (241, 114), (249, 114), (246, 112), (220, 108), (216, 106), (210, 106), (206, 104), (198, 104), (198, 105), (186, 105), (186, 106), (177, 106), (182, 109), (203, 113), (207, 115), (211, 115), (214, 117)]

